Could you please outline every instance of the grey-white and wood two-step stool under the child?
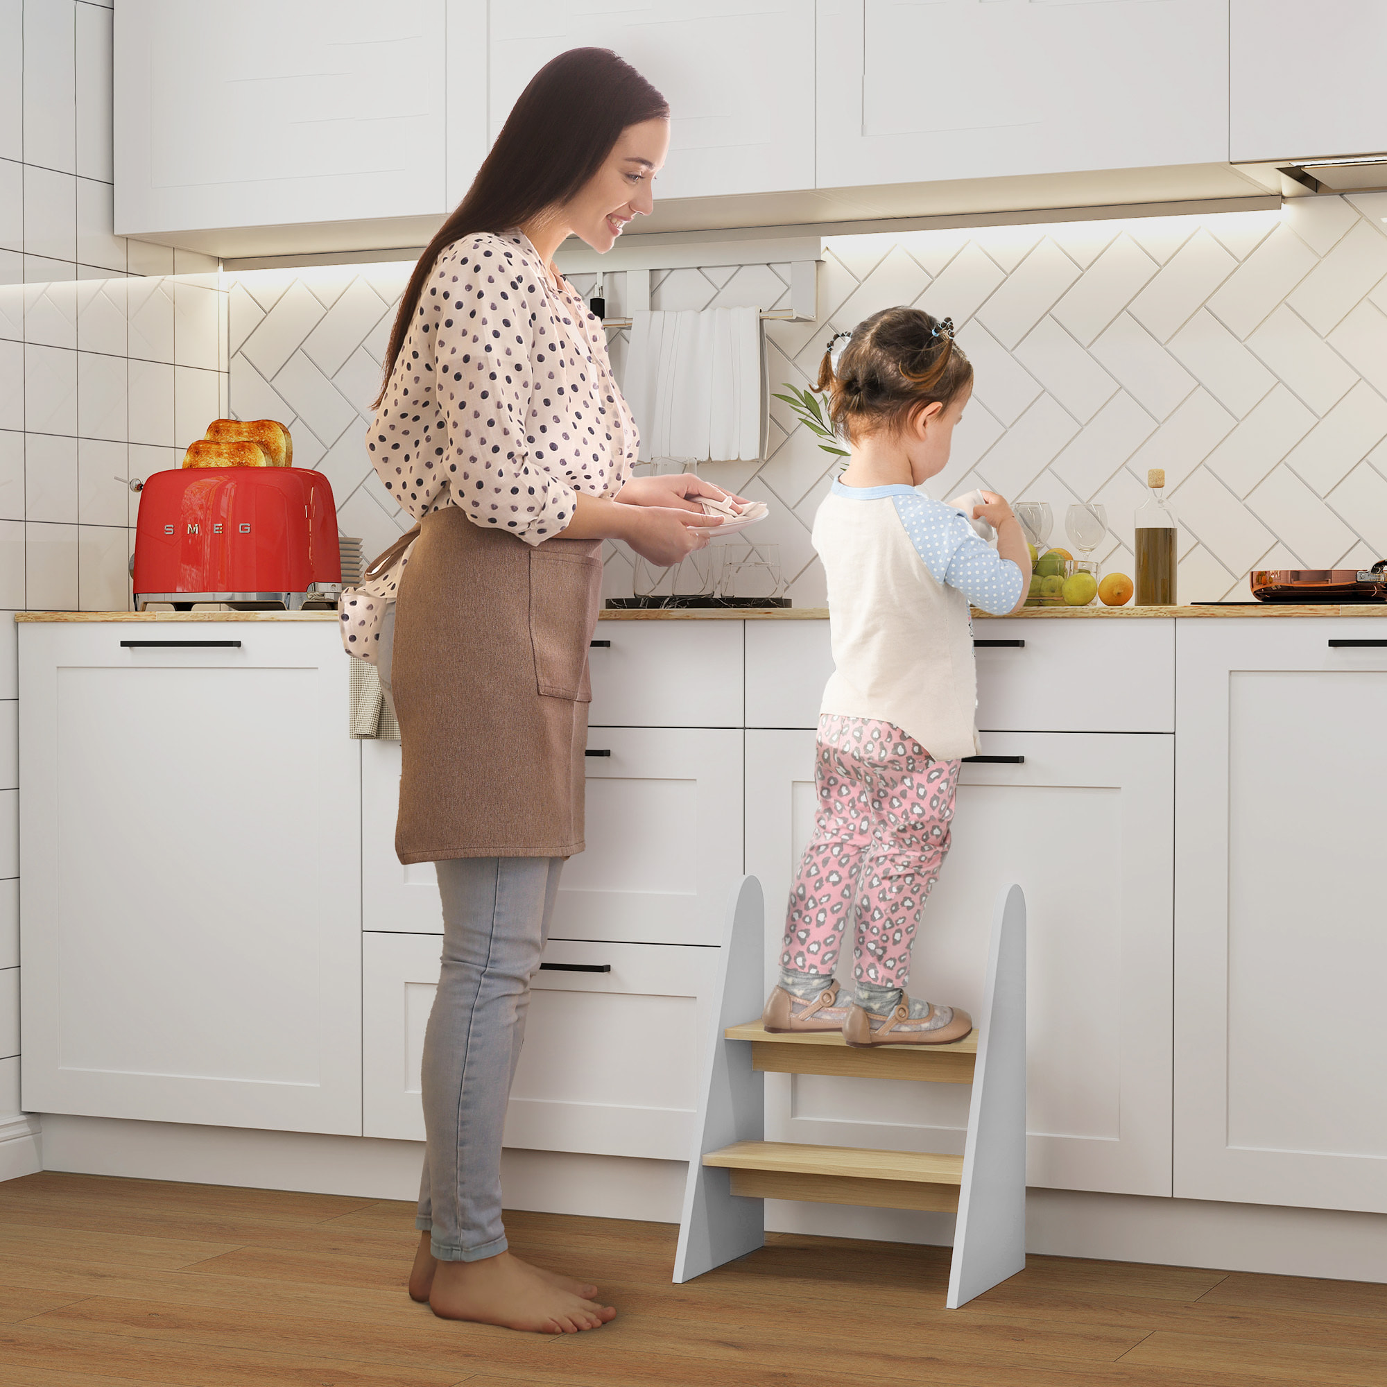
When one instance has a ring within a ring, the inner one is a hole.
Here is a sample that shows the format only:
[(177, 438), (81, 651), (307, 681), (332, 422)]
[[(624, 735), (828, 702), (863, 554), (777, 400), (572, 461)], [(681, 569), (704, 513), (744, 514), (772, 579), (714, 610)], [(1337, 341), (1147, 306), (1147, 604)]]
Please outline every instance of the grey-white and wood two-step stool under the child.
[[(674, 1280), (761, 1247), (767, 1198), (957, 1212), (950, 1309), (1025, 1266), (1026, 904), (1001, 892), (978, 1026), (953, 1044), (856, 1049), (835, 1032), (770, 1035), (756, 1015), (764, 907), (760, 882), (732, 892), (714, 1031), (702, 1072)], [(763, 1074), (971, 1083), (963, 1155), (766, 1142)]]

